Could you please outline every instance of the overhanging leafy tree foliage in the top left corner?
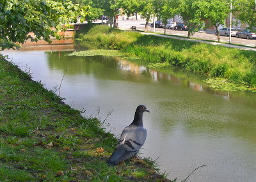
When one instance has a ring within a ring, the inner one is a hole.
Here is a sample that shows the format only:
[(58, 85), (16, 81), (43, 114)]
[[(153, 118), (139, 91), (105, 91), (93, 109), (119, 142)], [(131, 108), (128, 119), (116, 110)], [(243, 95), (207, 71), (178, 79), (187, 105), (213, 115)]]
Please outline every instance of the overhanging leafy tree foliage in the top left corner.
[[(10, 49), (26, 40), (43, 38), (51, 42), (50, 35), (57, 36), (61, 24), (76, 22), (77, 16), (86, 17), (88, 7), (73, 4), (69, 0), (1, 0), (0, 1), (0, 47)], [(29, 35), (33, 32), (35, 37)]]

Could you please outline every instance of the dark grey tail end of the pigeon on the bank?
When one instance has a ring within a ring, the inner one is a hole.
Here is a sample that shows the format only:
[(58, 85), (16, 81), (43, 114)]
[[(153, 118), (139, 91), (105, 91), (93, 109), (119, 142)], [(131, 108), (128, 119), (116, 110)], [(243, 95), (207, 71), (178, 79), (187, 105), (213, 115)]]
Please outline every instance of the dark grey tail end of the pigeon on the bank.
[(127, 151), (127, 149), (125, 149), (122, 145), (118, 146), (118, 148), (116, 148), (113, 154), (110, 156), (107, 163), (113, 166), (118, 165), (118, 163), (131, 158), (135, 153), (136, 152), (134, 151)]

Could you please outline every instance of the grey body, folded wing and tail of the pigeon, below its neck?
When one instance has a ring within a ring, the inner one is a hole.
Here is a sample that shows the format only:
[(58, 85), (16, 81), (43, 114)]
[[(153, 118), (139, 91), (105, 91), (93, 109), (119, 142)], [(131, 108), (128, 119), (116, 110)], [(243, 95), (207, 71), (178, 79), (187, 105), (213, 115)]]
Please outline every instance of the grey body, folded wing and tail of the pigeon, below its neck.
[(145, 143), (147, 130), (138, 126), (127, 126), (121, 134), (115, 151), (108, 160), (111, 165), (118, 165), (119, 162), (134, 156)]

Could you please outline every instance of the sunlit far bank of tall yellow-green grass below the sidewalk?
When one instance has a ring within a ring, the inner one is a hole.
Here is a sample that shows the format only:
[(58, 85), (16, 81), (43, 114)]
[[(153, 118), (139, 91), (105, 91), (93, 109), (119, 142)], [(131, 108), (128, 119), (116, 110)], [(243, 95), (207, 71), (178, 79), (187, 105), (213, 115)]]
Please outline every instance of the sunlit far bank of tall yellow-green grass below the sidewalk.
[(88, 26), (76, 34), (79, 40), (139, 56), (147, 63), (168, 63), (189, 72), (221, 77), (236, 84), (256, 87), (256, 52), (189, 42), (108, 26)]

